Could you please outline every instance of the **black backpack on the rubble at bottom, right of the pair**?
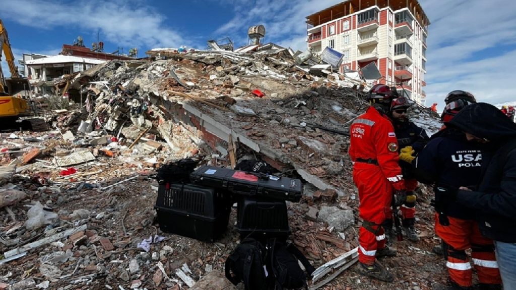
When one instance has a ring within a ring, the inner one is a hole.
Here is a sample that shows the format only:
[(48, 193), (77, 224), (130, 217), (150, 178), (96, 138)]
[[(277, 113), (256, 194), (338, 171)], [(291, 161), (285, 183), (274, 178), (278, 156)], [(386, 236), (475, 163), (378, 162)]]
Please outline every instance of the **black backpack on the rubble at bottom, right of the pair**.
[(312, 276), (315, 268), (293, 244), (282, 243), (275, 238), (267, 241), (268, 263), (275, 278), (275, 289), (308, 288), (307, 275), (299, 266), (298, 260)]

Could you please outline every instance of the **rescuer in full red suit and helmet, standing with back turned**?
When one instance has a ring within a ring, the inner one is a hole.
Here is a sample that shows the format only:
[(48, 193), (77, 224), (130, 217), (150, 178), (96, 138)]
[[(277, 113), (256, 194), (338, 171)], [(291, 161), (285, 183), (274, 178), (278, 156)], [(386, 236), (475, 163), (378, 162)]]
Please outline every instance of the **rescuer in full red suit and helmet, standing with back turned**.
[(405, 189), (398, 165), (398, 143), (388, 117), (391, 102), (398, 95), (385, 85), (376, 85), (367, 93), (372, 104), (350, 127), (349, 156), (353, 161), (353, 182), (360, 198), (359, 265), (357, 271), (381, 281), (392, 282), (392, 274), (377, 260), (395, 256), (385, 243), (381, 224), (391, 206), (393, 190)]

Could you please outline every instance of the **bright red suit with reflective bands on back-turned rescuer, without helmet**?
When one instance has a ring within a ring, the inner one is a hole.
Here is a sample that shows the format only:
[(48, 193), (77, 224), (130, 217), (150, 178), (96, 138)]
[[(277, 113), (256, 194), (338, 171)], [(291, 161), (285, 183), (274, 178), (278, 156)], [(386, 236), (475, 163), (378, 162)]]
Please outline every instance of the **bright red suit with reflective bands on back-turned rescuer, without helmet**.
[[(398, 143), (394, 128), (387, 117), (380, 115), (374, 107), (369, 107), (365, 114), (353, 121), (350, 131), (351, 160), (378, 160), (379, 165), (355, 162), (353, 182), (358, 188), (360, 199), (359, 216), (379, 225), (387, 217), (393, 187), (397, 190), (405, 188), (398, 165)], [(383, 229), (379, 229), (375, 236), (365, 228), (360, 228), (359, 244), (359, 261), (368, 265), (373, 264), (375, 255), (371, 253), (385, 247)]]

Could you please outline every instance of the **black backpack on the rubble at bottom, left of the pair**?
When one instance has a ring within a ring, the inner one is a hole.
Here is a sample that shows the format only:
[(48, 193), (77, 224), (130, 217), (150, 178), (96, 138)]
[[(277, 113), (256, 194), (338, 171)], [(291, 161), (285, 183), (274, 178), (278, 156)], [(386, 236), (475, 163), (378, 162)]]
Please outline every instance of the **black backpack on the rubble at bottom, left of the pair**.
[(243, 281), (246, 290), (268, 289), (266, 256), (267, 251), (259, 241), (244, 239), (225, 262), (226, 278), (235, 285)]

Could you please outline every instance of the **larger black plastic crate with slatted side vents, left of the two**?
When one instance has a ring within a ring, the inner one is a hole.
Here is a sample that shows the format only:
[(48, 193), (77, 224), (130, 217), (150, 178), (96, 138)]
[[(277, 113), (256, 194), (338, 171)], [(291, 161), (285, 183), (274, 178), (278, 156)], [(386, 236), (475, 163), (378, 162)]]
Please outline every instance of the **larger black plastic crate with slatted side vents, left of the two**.
[(192, 184), (163, 184), (154, 208), (162, 231), (213, 241), (228, 227), (231, 196)]

